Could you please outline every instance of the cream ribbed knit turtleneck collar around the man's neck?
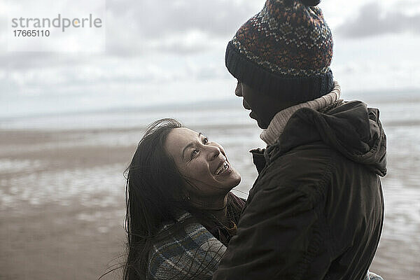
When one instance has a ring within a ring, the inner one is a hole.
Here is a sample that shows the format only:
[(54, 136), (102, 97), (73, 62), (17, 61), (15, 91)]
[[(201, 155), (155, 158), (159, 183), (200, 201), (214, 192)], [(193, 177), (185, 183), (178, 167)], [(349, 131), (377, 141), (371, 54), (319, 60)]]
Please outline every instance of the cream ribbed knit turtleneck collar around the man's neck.
[(335, 81), (332, 91), (328, 94), (319, 97), (318, 99), (311, 100), (309, 102), (304, 102), (297, 104), (295, 106), (288, 107), (276, 113), (276, 116), (272, 119), (267, 127), (267, 130), (264, 130), (260, 134), (260, 138), (265, 141), (267, 146), (273, 145), (280, 135), (283, 133), (284, 127), (288, 123), (290, 117), (295, 113), (295, 111), (302, 108), (314, 109), (319, 111), (325, 107), (328, 107), (338, 101), (341, 94), (341, 89), (339, 84)]

